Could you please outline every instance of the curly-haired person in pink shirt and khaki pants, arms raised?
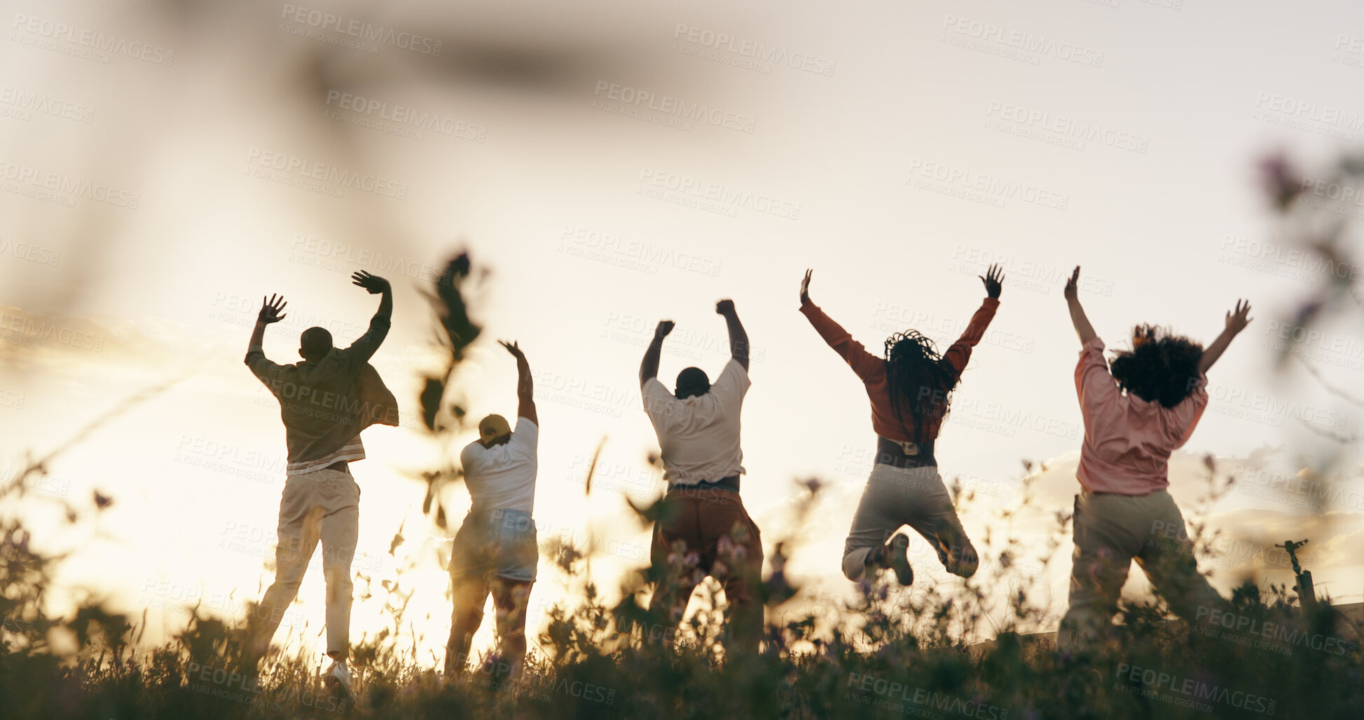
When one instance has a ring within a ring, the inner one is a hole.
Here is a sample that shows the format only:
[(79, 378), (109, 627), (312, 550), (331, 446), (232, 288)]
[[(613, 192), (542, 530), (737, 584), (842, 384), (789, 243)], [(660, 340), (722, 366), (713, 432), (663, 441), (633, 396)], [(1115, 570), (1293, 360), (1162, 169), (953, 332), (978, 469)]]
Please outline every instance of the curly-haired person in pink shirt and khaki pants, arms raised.
[(1207, 369), (1249, 322), (1248, 302), (1226, 313), (1226, 327), (1203, 346), (1163, 328), (1138, 325), (1132, 350), (1103, 361), (1103, 340), (1080, 307), (1076, 266), (1065, 302), (1080, 336), (1075, 389), (1084, 418), (1076, 475), (1071, 607), (1057, 648), (1086, 650), (1109, 627), (1132, 560), (1170, 609), (1184, 619), (1222, 598), (1198, 572), (1184, 516), (1166, 490), (1170, 454), (1183, 447), (1207, 407)]

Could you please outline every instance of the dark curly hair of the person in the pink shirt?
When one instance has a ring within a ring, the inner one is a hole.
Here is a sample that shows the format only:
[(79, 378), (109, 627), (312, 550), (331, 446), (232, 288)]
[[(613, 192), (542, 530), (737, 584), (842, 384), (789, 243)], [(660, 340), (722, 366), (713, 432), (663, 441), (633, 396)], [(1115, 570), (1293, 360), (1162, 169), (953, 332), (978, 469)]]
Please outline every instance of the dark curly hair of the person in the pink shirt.
[(1194, 392), (1203, 346), (1168, 328), (1132, 328), (1132, 350), (1118, 350), (1110, 363), (1113, 380), (1131, 395), (1174, 407)]

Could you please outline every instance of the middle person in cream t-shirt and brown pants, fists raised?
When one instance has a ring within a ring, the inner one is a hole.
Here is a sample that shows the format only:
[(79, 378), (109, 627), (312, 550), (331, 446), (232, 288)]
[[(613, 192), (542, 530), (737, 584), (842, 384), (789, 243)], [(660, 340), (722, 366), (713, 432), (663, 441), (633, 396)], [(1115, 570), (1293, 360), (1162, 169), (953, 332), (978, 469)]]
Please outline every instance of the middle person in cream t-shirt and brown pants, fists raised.
[(757, 650), (762, 604), (754, 597), (761, 581), (762, 540), (739, 497), (743, 451), (739, 411), (749, 391), (749, 336), (734, 301), (715, 311), (730, 332), (730, 362), (715, 384), (700, 368), (678, 373), (677, 389), (659, 381), (659, 355), (672, 321), (659, 322), (640, 365), (640, 392), (663, 449), (668, 493), (653, 529), (651, 579), (656, 582), (649, 609), (667, 612), (678, 623), (692, 590), (707, 575), (724, 587), (730, 627), (739, 645)]

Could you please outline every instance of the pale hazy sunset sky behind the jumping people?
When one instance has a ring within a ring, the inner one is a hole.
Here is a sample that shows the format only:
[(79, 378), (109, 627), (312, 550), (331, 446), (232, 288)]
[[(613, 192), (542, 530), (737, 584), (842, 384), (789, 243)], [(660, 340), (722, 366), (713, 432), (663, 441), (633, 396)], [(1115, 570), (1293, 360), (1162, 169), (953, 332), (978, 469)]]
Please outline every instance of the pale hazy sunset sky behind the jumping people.
[[(183, 624), (186, 601), (231, 616), (269, 583), (284, 481), (277, 404), (240, 362), (258, 298), (289, 301), (265, 348), (291, 362), (310, 325), (338, 344), (364, 331), (376, 299), (351, 272), (386, 276), (393, 331), (372, 362), (404, 424), (367, 430), (353, 466), (356, 568), (375, 583), (406, 568), (419, 645), (438, 657), (450, 541), (423, 518), (416, 474), (472, 433), (441, 445), (417, 430), (434, 337), (421, 290), (468, 250), (488, 273), (472, 295), (486, 332), (460, 391), (476, 417), (514, 414), (514, 363), (494, 340), (520, 342), (543, 426), (540, 537), (595, 540), (608, 592), (648, 556), (626, 499), (660, 492), (644, 344), (674, 320), (660, 377), (713, 376), (727, 357), (713, 306), (734, 299), (754, 346), (743, 499), (769, 555), (798, 541), (787, 570), (818, 604), (851, 592), (839, 556), (874, 437), (861, 384), (797, 311), (802, 273), (878, 351), (911, 327), (951, 343), (983, 296), (977, 276), (1000, 262), (1001, 307), (937, 458), (975, 492), (963, 519), (974, 538), (990, 531), (996, 555), (998, 514), (1035, 475), (1016, 549), (1058, 616), (1069, 545), (1041, 557), (1039, 538), (1078, 489), (1079, 343), (1061, 287), (1082, 265), (1080, 298), (1112, 348), (1139, 321), (1211, 342), (1236, 299), (1252, 301), (1172, 493), (1189, 516), (1213, 455), (1218, 477), (1241, 480), (1202, 507), (1210, 526), (1234, 542), (1309, 537), (1318, 589), (1360, 601), (1364, 482), (1354, 447), (1324, 434), (1357, 433), (1364, 410), (1305, 369), (1360, 387), (1359, 309), (1312, 336), (1294, 328), (1324, 275), (1293, 251), (1255, 168), (1284, 152), (1304, 180), (1324, 179), (1359, 150), (1364, 41), (1349, 29), (1364, 8), (1285, 12), (1203, 0), (7, 3), (0, 469), (175, 381), (64, 451), (16, 511), (72, 551), (65, 586), (146, 609), (151, 637)], [(1279, 372), (1292, 337), (1308, 337), (1304, 363)], [(1318, 506), (1319, 486), (1294, 478), (1327, 456), (1334, 484)], [(822, 490), (799, 525), (798, 481), (812, 477)], [(115, 504), (57, 533), (44, 493), (87, 507), (93, 490)], [(451, 518), (468, 507), (462, 488), (445, 500)], [(1207, 567), (1224, 590), (1243, 571), (1292, 583), (1273, 552), (1225, 542), (1237, 560)], [(960, 583), (918, 551), (921, 577)], [(565, 592), (543, 562), (532, 607)], [(297, 642), (315, 642), (322, 593), (310, 572), (286, 623)], [(357, 601), (353, 635), (382, 624), (376, 603)]]

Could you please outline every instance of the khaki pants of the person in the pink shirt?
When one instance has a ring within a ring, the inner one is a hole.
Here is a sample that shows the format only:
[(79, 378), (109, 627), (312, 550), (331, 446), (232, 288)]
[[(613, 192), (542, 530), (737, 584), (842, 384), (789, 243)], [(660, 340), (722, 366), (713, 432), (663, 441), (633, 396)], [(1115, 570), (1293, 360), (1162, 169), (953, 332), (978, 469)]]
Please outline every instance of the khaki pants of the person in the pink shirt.
[(1198, 572), (1194, 542), (1169, 492), (1084, 490), (1075, 496), (1071, 607), (1056, 635), (1060, 650), (1093, 646), (1112, 623), (1132, 560), (1180, 618), (1195, 618), (1199, 607), (1224, 607), (1222, 597)]

